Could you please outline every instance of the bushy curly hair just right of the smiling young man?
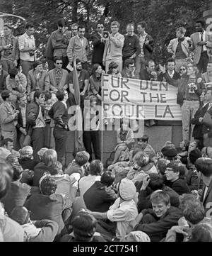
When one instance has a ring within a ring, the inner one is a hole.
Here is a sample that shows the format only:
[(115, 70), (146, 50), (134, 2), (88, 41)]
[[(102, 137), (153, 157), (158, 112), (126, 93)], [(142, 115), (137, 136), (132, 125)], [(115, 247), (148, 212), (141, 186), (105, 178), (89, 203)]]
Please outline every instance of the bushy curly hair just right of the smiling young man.
[(201, 201), (194, 194), (184, 194), (180, 198), (179, 208), (187, 221), (193, 225), (204, 219), (205, 209)]

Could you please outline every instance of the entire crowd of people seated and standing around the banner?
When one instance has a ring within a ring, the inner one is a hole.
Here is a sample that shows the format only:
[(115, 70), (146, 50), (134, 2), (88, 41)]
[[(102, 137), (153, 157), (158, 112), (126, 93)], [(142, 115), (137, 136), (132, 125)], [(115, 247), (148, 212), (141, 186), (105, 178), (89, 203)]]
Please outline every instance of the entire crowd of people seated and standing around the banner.
[[(90, 35), (91, 72), (85, 27), (74, 23), (69, 31), (63, 20), (57, 27), (47, 42), (47, 70), (36, 59), (33, 24), (18, 38), (4, 24), (0, 37), (0, 241), (211, 242), (212, 34), (204, 21), (190, 37), (176, 29), (165, 66), (155, 65), (145, 21), (136, 24), (137, 35), (132, 23), (122, 35), (117, 21), (111, 33), (100, 21)], [(167, 141), (155, 152), (123, 119), (104, 166), (95, 119), (104, 73), (177, 87), (179, 148)], [(67, 165), (68, 109), (76, 105), (85, 117), (85, 151)]]

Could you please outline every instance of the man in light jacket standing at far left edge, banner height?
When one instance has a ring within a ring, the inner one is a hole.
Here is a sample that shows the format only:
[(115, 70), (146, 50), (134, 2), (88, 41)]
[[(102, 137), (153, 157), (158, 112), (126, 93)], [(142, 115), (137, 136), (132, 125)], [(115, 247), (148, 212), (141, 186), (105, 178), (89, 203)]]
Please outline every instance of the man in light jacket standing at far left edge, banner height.
[[(5, 138), (11, 138), (16, 143), (16, 125), (19, 111), (11, 104), (11, 92), (4, 90), (1, 93), (3, 103), (0, 105), (0, 123), (1, 135)], [(15, 145), (14, 145), (15, 146)]]

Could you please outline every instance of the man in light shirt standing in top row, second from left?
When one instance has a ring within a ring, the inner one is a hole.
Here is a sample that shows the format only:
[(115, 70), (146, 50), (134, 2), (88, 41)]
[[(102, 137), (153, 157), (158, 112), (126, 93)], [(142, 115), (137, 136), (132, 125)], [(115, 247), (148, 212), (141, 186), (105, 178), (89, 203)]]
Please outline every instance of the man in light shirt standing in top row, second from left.
[(35, 62), (35, 38), (33, 34), (33, 24), (27, 23), (25, 25), (25, 33), (18, 38), (20, 65), (26, 77), (30, 69), (33, 69), (33, 63)]

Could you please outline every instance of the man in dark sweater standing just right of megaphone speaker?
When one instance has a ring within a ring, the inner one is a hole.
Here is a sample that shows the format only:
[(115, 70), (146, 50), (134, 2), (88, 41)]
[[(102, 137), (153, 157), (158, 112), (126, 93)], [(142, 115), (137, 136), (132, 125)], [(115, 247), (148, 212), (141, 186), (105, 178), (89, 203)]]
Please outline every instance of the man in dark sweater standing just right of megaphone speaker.
[(124, 47), (122, 50), (123, 64), (126, 59), (135, 60), (141, 53), (141, 45), (138, 35), (134, 34), (134, 24), (129, 23), (126, 26), (126, 35), (124, 35)]

